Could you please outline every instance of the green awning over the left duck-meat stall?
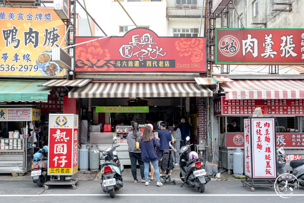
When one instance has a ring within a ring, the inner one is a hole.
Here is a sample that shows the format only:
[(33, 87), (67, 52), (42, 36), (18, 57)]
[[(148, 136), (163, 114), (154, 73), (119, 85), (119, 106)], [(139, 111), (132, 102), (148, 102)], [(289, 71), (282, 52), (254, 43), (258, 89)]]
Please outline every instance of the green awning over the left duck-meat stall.
[(46, 80), (0, 80), (0, 102), (47, 102), (48, 93), (54, 87), (37, 87), (43, 82)]

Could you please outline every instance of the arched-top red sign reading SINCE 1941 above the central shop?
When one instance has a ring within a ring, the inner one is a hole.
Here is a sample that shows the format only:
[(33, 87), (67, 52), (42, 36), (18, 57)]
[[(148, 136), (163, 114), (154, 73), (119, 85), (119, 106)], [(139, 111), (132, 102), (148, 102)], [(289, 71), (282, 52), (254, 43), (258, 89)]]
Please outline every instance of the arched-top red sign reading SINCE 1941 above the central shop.
[[(98, 37), (76, 37), (76, 44)], [(206, 72), (206, 38), (158, 37), (136, 28), (76, 46), (75, 72)]]

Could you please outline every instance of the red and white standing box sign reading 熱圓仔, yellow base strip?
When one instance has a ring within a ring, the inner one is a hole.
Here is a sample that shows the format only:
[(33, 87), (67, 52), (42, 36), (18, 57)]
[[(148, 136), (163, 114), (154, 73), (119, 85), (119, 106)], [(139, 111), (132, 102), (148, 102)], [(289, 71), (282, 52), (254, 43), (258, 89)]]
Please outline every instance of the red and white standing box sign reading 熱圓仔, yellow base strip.
[(48, 175), (73, 175), (78, 171), (78, 115), (49, 115)]

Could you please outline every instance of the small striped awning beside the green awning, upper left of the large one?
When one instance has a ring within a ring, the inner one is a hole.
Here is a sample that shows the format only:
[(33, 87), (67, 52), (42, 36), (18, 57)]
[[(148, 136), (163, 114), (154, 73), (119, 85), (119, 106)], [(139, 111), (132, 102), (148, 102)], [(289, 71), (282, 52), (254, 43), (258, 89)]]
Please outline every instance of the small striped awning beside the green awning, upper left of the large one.
[(66, 87), (83, 87), (89, 82), (91, 82), (92, 79), (75, 79), (75, 80), (65, 80), (65, 79), (53, 79), (49, 80), (47, 82), (44, 82), (39, 87), (58, 87), (58, 86), (66, 86)]

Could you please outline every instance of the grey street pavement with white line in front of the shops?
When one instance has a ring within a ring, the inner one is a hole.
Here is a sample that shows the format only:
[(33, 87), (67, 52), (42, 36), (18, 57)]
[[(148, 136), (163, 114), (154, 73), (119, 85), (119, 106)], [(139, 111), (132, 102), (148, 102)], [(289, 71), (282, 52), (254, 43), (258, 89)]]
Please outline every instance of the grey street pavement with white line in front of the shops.
[[(223, 173), (225, 174), (225, 173)], [(140, 172), (137, 170), (137, 178), (140, 180)], [(100, 173), (79, 172), (72, 178), (78, 178), (79, 185), (75, 190), (69, 185), (50, 185), (48, 190), (34, 184), (30, 173), (24, 176), (12, 177), (8, 174), (0, 174), (0, 200), (1, 202), (302, 202), (304, 189), (300, 188), (293, 192), (290, 198), (278, 196), (273, 187), (255, 187), (255, 191), (243, 187), (240, 180), (233, 179), (230, 175), (226, 181), (212, 180), (205, 185), (205, 192), (199, 193), (196, 188), (187, 185), (180, 187), (182, 181), (179, 178), (179, 170), (173, 170), (173, 183), (164, 183), (157, 187), (156, 180), (151, 181), (150, 186), (144, 183), (134, 183), (130, 169), (123, 171), (124, 186), (116, 191), (116, 197), (110, 198), (100, 186)], [(41, 190), (37, 195), (22, 195), (30, 190)], [(10, 195), (8, 195), (10, 194)]]

